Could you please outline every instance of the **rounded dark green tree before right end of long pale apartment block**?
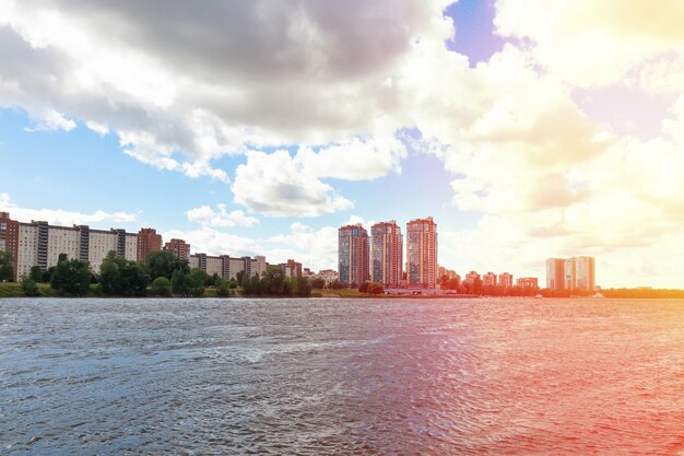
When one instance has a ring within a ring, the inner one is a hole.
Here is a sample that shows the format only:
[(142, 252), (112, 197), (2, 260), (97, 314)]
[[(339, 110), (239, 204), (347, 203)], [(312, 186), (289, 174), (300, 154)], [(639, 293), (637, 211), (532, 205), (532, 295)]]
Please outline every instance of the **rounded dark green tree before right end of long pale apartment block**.
[(102, 292), (118, 296), (144, 296), (150, 277), (135, 261), (109, 252), (99, 268)]

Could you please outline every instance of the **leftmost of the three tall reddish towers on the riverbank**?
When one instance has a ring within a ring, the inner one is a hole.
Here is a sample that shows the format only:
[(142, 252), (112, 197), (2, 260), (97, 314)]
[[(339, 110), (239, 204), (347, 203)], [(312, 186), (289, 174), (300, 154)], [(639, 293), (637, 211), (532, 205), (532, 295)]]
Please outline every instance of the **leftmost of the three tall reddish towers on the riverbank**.
[(338, 269), (343, 285), (359, 284), (370, 278), (368, 232), (359, 224), (338, 230)]

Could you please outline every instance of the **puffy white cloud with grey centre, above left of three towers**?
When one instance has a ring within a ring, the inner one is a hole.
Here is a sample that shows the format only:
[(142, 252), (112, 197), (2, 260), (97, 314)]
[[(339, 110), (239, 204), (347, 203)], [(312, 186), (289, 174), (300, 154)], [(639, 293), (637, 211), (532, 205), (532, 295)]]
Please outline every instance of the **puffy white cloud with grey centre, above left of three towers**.
[(232, 189), (235, 202), (267, 215), (315, 217), (353, 207), (283, 150), (248, 152), (247, 163), (237, 167)]

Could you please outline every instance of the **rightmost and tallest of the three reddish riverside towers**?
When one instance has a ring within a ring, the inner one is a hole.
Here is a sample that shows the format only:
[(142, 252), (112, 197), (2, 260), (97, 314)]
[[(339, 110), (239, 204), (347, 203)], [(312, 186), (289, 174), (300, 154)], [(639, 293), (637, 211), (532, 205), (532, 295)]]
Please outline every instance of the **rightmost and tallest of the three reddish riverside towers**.
[(406, 223), (409, 284), (434, 289), (437, 284), (437, 224), (432, 217)]

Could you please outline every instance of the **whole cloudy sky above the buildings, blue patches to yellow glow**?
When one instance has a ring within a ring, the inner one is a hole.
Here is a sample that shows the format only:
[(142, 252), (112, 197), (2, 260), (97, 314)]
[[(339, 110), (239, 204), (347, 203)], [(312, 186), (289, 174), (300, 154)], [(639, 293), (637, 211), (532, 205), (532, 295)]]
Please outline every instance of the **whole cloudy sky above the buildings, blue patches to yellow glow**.
[(0, 0), (0, 210), (337, 268), (684, 288), (684, 2)]

